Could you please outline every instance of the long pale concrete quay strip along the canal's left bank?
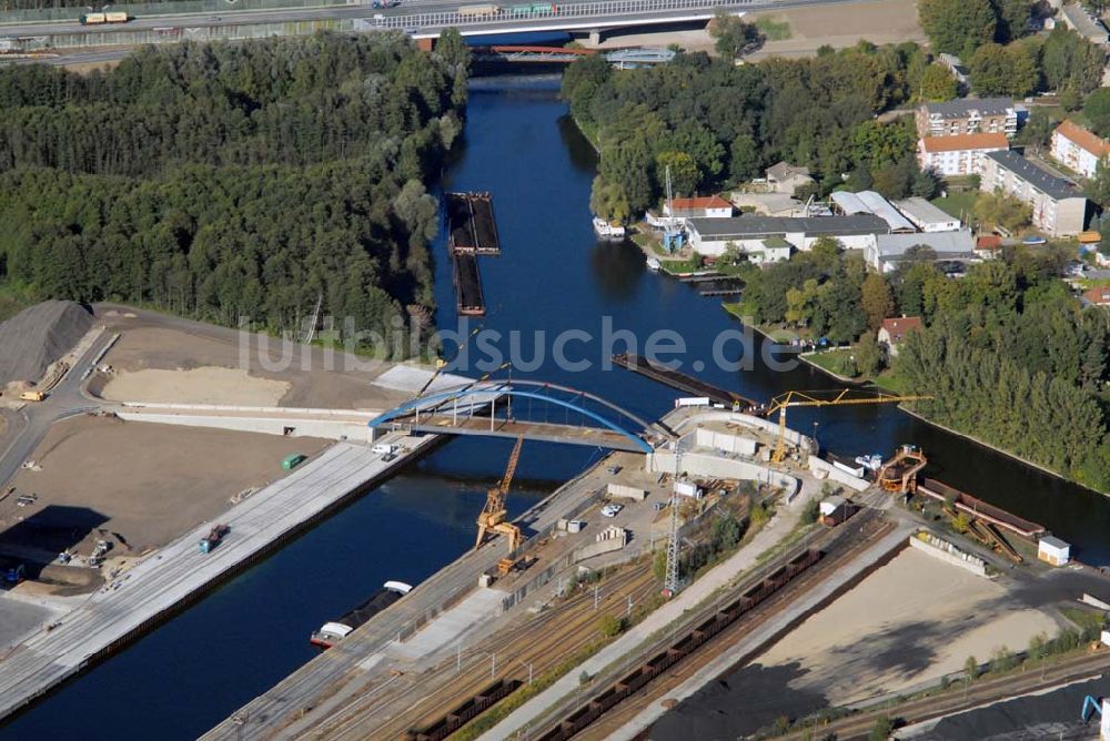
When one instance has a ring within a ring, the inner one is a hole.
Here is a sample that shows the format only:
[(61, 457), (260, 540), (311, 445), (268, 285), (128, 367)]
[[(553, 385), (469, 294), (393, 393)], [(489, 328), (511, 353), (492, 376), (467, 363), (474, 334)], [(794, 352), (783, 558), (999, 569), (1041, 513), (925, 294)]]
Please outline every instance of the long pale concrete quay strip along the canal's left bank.
[(404, 448), (390, 463), (365, 446), (332, 446), (228, 510), (220, 522), (230, 531), (212, 552), (202, 555), (196, 546), (211, 529), (209, 522), (151, 554), (81, 607), (20, 643), (0, 662), (0, 718), (135, 640), (431, 449), (438, 438), (390, 439)]

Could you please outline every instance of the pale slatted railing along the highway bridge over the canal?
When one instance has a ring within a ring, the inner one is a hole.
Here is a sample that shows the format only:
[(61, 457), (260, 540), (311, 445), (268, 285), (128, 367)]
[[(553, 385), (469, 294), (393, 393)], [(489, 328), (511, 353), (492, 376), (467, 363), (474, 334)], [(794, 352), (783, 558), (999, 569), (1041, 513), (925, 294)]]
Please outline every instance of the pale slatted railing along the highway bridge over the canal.
[(683, 10), (712, 10), (749, 4), (765, 4), (760, 0), (607, 0), (603, 2), (553, 3), (551, 10), (514, 13), (511, 6), (501, 7), (500, 12), (485, 14), (462, 14), (458, 11), (432, 13), (381, 14), (356, 23), (360, 28), (382, 29), (442, 29), (448, 27), (496, 27), (527, 20), (543, 19), (588, 19), (605, 16), (638, 16)]

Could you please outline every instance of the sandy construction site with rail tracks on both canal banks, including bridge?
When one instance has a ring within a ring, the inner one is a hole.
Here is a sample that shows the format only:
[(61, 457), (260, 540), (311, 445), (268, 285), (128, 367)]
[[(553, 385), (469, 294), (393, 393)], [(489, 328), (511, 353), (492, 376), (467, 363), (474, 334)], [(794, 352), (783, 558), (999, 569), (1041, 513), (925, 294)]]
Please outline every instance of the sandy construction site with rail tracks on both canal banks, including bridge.
[[(0, 397), (23, 416), (4, 430), (0, 498), (6, 714), (451, 435), (513, 439), (473, 548), (355, 608), (206, 738), (708, 739), (844, 708), (860, 722), (968, 656), (1067, 630), (1068, 601), (1110, 600), (1042, 526), (927, 478), (926, 450), (847, 460), (788, 420), (917, 397), (756, 402), (622, 358), (702, 394), (644, 420), (553, 384), (322, 356), (266, 369), (259, 337), (240, 365), (230, 331), (118, 307), (50, 317), (63, 341), (8, 370), (40, 376)], [(543, 404), (581, 420), (528, 416)], [(512, 516), (522, 458), (551, 443), (610, 451)]]

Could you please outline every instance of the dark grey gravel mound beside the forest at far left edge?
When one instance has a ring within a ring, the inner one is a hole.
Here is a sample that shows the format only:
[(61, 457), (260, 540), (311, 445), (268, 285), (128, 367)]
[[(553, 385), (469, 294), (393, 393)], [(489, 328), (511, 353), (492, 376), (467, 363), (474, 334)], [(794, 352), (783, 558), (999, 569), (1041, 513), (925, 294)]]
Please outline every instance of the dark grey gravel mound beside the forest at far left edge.
[(72, 301), (44, 301), (0, 324), (0, 386), (38, 380), (91, 326), (92, 314)]

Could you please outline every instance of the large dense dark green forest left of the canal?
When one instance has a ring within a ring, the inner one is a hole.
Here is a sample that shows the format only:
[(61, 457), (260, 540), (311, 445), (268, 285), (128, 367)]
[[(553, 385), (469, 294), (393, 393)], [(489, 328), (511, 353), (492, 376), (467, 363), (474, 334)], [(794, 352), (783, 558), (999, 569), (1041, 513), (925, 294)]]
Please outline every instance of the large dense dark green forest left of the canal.
[(463, 128), (468, 51), (401, 34), (147, 48), (87, 77), (0, 71), (0, 278), (299, 328), (433, 307), (425, 182)]

